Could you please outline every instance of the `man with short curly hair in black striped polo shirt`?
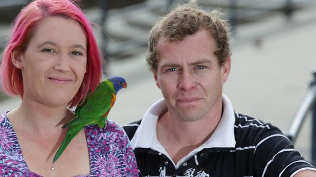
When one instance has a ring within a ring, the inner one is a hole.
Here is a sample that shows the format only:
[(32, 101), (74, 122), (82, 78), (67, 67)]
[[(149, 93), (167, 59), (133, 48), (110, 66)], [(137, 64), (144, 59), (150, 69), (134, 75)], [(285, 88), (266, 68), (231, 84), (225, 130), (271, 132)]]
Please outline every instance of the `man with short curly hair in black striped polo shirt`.
[(152, 28), (147, 63), (163, 99), (124, 126), (143, 177), (306, 177), (281, 131), (238, 114), (222, 93), (230, 71), (229, 25), (194, 1)]

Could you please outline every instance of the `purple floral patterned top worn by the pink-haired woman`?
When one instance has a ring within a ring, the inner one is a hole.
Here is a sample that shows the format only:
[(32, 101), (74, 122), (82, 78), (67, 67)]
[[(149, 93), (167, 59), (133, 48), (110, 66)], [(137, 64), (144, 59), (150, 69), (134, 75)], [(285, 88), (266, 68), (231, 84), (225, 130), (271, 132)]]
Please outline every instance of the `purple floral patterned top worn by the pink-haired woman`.
[[(0, 176), (41, 177), (31, 172), (24, 160), (17, 135), (6, 115), (0, 116)], [(90, 174), (76, 177), (138, 177), (133, 149), (123, 128), (107, 121), (105, 129), (84, 127), (90, 160)]]

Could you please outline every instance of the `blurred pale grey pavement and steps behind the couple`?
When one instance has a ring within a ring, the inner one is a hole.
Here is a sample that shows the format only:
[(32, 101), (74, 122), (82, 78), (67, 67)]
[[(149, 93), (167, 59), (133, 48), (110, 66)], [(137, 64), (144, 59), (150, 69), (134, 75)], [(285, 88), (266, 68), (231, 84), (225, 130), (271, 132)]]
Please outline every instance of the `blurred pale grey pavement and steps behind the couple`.
[[(118, 93), (109, 119), (121, 125), (136, 121), (162, 97), (145, 62), (148, 30), (167, 12), (169, 3), (179, 1), (139, 0), (134, 5), (112, 5), (112, 8), (102, 8), (104, 4), (100, 1), (86, 5), (86, 15), (98, 24), (94, 25), (94, 32), (107, 56), (105, 71), (108, 75), (123, 76), (128, 83), (128, 88)], [(316, 0), (236, 2), (200, 1), (201, 7), (209, 11), (220, 7), (225, 13), (223, 17), (233, 23), (232, 69), (224, 94), (238, 113), (286, 131), (314, 79), (311, 72), (316, 67)], [(107, 9), (106, 14), (103, 9)], [(10, 34), (8, 21), (0, 17), (2, 48)], [(3, 94), (1, 97), (1, 113), (20, 103), (19, 98)], [(309, 115), (295, 144), (307, 160), (311, 151), (310, 132)]]

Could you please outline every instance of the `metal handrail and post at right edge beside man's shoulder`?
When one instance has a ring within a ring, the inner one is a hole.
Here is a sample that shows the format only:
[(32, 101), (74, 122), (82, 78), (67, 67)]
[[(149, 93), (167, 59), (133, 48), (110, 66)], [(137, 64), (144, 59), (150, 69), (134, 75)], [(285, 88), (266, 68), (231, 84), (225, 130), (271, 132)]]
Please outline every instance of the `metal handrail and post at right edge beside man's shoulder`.
[(316, 166), (316, 68), (313, 71), (314, 80), (311, 82), (307, 93), (304, 96), (292, 122), (290, 123), (288, 132), (285, 134), (292, 143), (298, 136), (301, 126), (306, 119), (308, 113), (312, 113), (312, 147), (311, 147), (311, 163)]

